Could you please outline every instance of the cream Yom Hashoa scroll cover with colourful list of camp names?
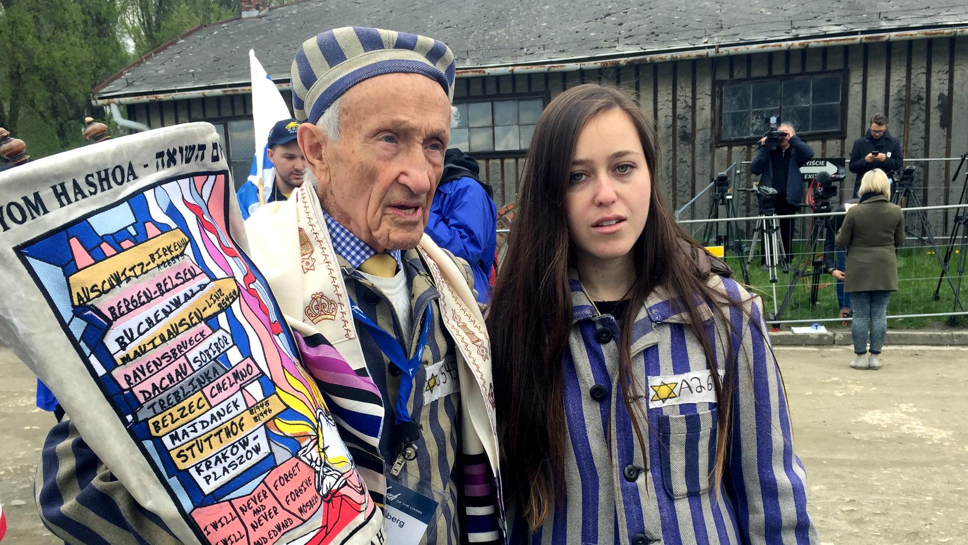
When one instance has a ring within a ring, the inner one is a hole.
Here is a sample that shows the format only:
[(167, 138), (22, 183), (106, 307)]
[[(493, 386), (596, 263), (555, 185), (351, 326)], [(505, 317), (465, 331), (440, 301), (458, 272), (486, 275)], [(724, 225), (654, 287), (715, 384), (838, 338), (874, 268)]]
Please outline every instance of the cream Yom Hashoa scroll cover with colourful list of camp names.
[[(134, 497), (190, 544), (379, 542), (380, 512), (244, 252), (230, 186), (208, 123), (0, 174), (0, 339), (124, 485), (100, 501)], [(97, 486), (77, 490), (88, 468), (58, 475), (75, 484), (42, 507), (72, 542), (111, 542), (87, 537), (103, 523), (78, 499)]]

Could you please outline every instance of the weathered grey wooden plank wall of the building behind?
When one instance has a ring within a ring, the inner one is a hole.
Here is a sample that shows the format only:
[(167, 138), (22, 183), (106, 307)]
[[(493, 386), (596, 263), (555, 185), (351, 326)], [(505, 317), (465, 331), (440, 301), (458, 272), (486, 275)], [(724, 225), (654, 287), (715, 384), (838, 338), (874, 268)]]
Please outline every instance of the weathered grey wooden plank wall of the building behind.
[[(756, 151), (749, 144), (718, 143), (719, 86), (724, 81), (825, 70), (846, 71), (844, 132), (825, 139), (806, 139), (818, 157), (846, 158), (875, 112), (888, 113), (891, 133), (902, 141), (905, 157), (958, 156), (968, 150), (968, 37), (808, 48), (580, 72), (474, 77), (458, 80), (455, 96), (468, 100), (485, 95), (547, 93), (554, 98), (579, 82), (618, 84), (655, 118), (661, 160), (654, 177), (668, 205), (679, 208), (706, 187), (711, 176), (733, 161), (749, 160)], [(251, 97), (233, 95), (136, 104), (127, 108), (127, 115), (154, 128), (176, 122), (242, 118), (251, 111)], [(517, 194), (524, 159), (500, 157), (480, 163), (482, 176), (494, 186), (498, 206), (511, 202)], [(951, 184), (956, 164), (933, 163), (920, 169), (925, 176), (919, 176), (919, 183), (926, 179), (920, 195), (925, 203), (957, 200), (960, 180)], [(754, 180), (747, 165), (741, 172), (742, 186)], [(848, 188), (853, 186), (853, 177), (848, 175)], [(739, 197), (741, 213), (755, 212), (755, 204), (745, 195)], [(709, 201), (701, 199), (683, 217), (700, 217), (708, 209)], [(934, 215), (939, 223), (947, 223), (945, 215)]]

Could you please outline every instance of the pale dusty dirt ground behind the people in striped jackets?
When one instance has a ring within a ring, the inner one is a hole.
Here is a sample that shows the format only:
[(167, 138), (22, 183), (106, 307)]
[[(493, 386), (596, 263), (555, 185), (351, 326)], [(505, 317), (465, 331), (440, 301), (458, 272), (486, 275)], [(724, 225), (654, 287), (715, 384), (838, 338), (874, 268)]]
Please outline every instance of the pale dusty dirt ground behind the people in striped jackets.
[[(889, 348), (884, 369), (847, 367), (849, 349), (777, 348), (823, 544), (968, 543), (968, 348)], [(49, 413), (34, 378), (0, 347), (4, 543), (59, 543), (34, 506)]]

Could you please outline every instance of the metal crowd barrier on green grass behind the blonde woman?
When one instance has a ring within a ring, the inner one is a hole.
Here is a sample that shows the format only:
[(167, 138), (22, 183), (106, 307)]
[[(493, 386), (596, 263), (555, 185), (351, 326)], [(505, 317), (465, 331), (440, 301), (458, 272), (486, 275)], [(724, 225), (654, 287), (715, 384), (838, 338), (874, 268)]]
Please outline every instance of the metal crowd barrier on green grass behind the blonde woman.
[[(964, 230), (956, 238), (937, 236), (931, 230), (944, 214), (962, 208), (968, 208), (968, 205), (903, 208), (906, 238), (897, 249), (899, 289), (892, 294), (889, 310), (894, 313), (889, 314), (889, 318), (918, 318), (926, 322), (926, 318), (951, 320), (953, 316), (968, 315), (968, 286), (961, 290), (968, 237), (965, 237)], [(830, 247), (825, 250), (824, 246), (824, 240), (835, 235), (834, 226), (826, 225), (824, 219), (845, 213), (770, 216), (794, 219), (795, 233), (800, 235), (791, 244), (790, 266), (786, 270), (778, 263), (772, 270), (770, 263), (764, 267), (767, 252), (762, 235), (755, 240), (751, 236), (753, 226), (764, 216), (682, 220), (680, 223), (683, 226), (735, 225), (733, 229), (715, 232), (697, 230), (700, 235), (705, 235), (697, 240), (707, 246), (724, 246), (724, 261), (733, 268), (737, 279), (763, 296), (771, 324), (846, 322), (850, 318), (836, 316), (840, 308), (849, 305), (840, 301), (836, 281), (827, 272), (830, 265), (841, 270), (843, 265), (837, 263), (837, 251), (830, 251)], [(818, 223), (822, 227), (815, 227)], [(739, 240), (730, 240), (737, 236), (734, 234), (739, 234)], [(780, 239), (778, 232), (776, 239)], [(850, 271), (846, 274), (849, 276)]]

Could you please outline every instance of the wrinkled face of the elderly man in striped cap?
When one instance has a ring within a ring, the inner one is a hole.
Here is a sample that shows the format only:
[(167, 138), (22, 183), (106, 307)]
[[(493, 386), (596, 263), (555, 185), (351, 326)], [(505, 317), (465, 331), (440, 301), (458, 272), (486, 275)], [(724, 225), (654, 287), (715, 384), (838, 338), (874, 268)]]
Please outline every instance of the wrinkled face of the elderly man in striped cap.
[(425, 76), (385, 74), (340, 102), (340, 140), (299, 128), (322, 208), (377, 251), (416, 247), (443, 171), (447, 95)]

